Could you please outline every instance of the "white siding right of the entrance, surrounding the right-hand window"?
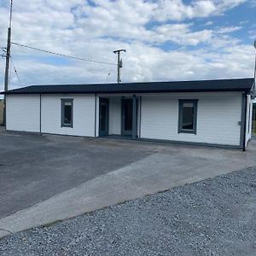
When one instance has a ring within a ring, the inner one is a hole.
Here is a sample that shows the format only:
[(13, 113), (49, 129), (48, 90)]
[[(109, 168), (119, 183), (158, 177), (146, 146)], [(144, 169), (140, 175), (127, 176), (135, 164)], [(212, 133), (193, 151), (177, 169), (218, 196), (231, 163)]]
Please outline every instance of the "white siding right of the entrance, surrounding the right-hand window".
[[(178, 100), (198, 99), (197, 132), (178, 133)], [(183, 93), (143, 96), (141, 137), (239, 146), (241, 93)]]

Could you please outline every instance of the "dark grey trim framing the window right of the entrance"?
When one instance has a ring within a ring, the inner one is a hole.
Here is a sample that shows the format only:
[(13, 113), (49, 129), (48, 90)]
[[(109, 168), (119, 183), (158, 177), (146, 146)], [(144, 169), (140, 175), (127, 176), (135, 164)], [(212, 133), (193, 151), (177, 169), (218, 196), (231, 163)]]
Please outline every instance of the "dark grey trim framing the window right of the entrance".
[[(183, 103), (193, 103), (195, 107), (195, 114), (194, 114), (194, 129), (193, 130), (183, 130), (182, 129), (182, 121), (183, 121)], [(197, 130), (197, 102), (198, 100), (191, 99), (191, 100), (178, 100), (178, 124), (177, 124), (177, 132), (178, 133), (190, 133), (196, 134)]]

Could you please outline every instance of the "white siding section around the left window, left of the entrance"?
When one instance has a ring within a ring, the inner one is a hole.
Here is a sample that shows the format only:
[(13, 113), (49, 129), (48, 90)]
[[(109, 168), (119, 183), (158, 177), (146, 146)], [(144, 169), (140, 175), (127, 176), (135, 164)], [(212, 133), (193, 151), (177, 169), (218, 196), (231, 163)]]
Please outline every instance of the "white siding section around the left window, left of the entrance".
[[(73, 128), (61, 127), (61, 99), (73, 99)], [(94, 95), (42, 95), (42, 132), (95, 136)]]

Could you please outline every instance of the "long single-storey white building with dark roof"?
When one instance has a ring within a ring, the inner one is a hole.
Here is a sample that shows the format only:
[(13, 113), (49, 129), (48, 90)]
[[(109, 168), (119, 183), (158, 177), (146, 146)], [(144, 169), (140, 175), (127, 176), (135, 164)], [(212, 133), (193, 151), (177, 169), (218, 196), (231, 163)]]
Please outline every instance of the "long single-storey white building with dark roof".
[(6, 129), (245, 149), (253, 81), (32, 85), (5, 92)]

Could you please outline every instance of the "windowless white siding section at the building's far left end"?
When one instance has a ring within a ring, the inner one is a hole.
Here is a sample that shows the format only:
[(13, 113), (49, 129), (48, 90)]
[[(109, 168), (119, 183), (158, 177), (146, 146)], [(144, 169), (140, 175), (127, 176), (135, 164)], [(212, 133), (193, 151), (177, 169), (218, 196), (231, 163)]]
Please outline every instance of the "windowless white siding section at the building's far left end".
[(6, 99), (6, 129), (10, 131), (40, 130), (40, 96), (9, 95)]

